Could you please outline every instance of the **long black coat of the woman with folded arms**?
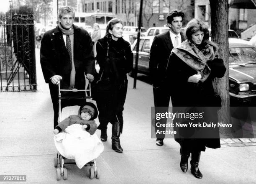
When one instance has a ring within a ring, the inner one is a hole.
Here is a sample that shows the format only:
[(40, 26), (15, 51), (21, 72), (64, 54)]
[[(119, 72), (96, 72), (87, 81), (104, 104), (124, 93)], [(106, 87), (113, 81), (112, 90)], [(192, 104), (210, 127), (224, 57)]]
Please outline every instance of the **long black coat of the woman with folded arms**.
[(105, 36), (96, 44), (97, 62), (100, 65), (99, 76), (102, 91), (97, 95), (100, 126), (105, 129), (108, 122), (119, 122), (123, 129), (123, 105), (127, 92), (127, 73), (133, 67), (131, 45), (123, 38), (114, 41)]

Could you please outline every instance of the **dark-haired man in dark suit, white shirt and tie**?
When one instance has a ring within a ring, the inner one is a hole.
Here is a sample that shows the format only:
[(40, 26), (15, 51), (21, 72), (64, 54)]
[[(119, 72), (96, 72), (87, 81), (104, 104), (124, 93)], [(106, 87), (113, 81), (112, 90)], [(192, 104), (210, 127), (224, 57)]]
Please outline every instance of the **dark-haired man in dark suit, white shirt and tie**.
[[(170, 30), (155, 36), (150, 50), (149, 69), (153, 83), (154, 105), (166, 107), (165, 111), (168, 111), (170, 102), (169, 91), (174, 90), (166, 81), (166, 67), (172, 49), (184, 41), (181, 33), (183, 18), (184, 13), (181, 10), (172, 10), (168, 13), (166, 20)], [(155, 109), (155, 111), (157, 113), (158, 110)], [(161, 119), (160, 123), (165, 124), (166, 120)], [(165, 136), (158, 134), (157, 130), (165, 130), (165, 127), (156, 127), (156, 145), (163, 146)]]

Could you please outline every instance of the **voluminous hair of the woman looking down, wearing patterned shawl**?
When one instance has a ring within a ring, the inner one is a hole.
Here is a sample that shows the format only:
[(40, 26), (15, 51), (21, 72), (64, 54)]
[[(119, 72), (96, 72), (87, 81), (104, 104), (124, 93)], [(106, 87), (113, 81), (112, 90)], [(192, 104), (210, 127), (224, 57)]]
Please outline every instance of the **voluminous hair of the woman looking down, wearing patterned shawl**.
[(192, 34), (197, 31), (202, 31), (204, 33), (203, 41), (209, 39), (209, 30), (208, 26), (202, 23), (200, 20), (194, 18), (187, 23), (186, 27), (186, 36), (189, 41), (192, 40)]

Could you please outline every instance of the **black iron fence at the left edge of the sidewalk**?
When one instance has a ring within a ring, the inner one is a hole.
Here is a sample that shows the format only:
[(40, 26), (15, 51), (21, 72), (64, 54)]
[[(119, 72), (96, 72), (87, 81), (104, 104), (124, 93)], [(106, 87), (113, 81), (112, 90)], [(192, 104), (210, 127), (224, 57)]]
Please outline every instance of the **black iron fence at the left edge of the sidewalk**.
[(33, 14), (0, 16), (0, 92), (36, 90)]

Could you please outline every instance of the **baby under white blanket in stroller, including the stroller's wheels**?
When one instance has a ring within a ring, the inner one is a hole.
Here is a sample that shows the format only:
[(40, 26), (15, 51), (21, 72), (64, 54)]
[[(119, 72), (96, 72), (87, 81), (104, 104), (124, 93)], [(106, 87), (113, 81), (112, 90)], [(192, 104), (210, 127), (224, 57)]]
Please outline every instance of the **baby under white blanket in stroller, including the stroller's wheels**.
[[(85, 102), (78, 110), (78, 115), (69, 115), (54, 129), (54, 143), (58, 150), (54, 157), (54, 166), (57, 168), (57, 180), (63, 176), (67, 179), (67, 169), (64, 159), (74, 159), (79, 169), (90, 164), (89, 177), (100, 177), (100, 170), (96, 166), (96, 158), (102, 153), (104, 146), (95, 134), (97, 124), (97, 107), (91, 102)], [(66, 163), (72, 164), (72, 163)]]

